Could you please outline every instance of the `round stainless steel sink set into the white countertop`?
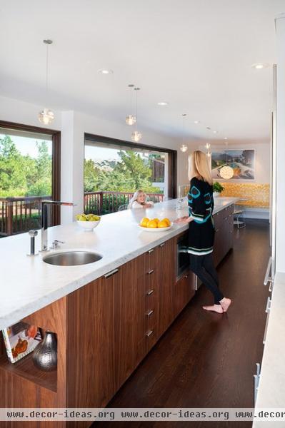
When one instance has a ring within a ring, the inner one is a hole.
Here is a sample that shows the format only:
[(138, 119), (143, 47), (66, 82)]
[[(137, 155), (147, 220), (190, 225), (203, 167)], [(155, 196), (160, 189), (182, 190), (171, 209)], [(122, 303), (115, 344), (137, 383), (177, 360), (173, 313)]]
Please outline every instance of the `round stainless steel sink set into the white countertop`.
[(56, 266), (87, 265), (98, 262), (102, 256), (90, 251), (66, 251), (65, 253), (51, 253), (43, 258), (45, 263)]

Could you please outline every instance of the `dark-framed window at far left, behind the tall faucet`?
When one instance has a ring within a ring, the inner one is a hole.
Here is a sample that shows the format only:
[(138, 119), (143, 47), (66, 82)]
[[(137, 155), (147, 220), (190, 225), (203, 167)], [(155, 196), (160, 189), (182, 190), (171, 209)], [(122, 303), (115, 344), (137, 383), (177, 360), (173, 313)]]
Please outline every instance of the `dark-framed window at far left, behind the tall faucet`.
[(59, 198), (59, 154), (60, 133), (0, 122), (1, 238), (40, 228), (41, 200)]

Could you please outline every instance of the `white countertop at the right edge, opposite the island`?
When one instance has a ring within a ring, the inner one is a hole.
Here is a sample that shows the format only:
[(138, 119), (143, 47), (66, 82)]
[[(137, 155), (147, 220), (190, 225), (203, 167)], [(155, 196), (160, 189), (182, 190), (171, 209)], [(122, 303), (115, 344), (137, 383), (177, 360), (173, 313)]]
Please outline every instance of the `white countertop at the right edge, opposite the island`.
[[(285, 273), (276, 273), (271, 295), (261, 377), (256, 399), (258, 408), (285, 407)], [(254, 428), (284, 427), (285, 422), (254, 421)]]

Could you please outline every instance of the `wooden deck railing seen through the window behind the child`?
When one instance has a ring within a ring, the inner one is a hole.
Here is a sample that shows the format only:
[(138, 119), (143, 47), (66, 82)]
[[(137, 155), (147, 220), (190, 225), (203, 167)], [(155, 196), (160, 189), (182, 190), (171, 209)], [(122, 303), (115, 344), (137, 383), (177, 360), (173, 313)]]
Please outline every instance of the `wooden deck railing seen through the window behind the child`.
[[(84, 213), (97, 215), (116, 213), (121, 205), (126, 205), (134, 192), (88, 192), (84, 194)], [(147, 193), (154, 203), (164, 200), (163, 193)]]

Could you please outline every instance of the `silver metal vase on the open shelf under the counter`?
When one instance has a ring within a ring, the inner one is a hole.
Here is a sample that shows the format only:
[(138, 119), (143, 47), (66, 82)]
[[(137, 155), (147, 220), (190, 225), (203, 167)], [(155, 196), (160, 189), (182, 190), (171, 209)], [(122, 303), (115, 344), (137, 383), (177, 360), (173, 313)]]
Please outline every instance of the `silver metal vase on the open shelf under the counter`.
[(40, 370), (49, 372), (57, 367), (56, 334), (46, 330), (44, 339), (33, 352), (34, 365)]

